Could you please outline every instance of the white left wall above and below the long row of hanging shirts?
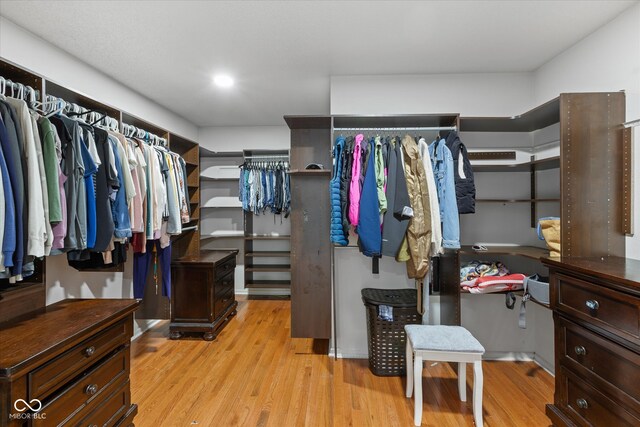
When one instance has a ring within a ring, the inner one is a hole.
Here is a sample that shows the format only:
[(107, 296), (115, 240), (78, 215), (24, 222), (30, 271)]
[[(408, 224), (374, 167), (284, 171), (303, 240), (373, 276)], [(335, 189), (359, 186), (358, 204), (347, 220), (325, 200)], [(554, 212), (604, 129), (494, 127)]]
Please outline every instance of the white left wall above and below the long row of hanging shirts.
[[(3, 17), (0, 57), (185, 138), (198, 137), (198, 128), (192, 123)], [(125, 264), (124, 273), (81, 273), (69, 267), (65, 255), (48, 257), (47, 304), (65, 298), (132, 298), (132, 277), (132, 259)], [(152, 322), (136, 320), (134, 334)]]

